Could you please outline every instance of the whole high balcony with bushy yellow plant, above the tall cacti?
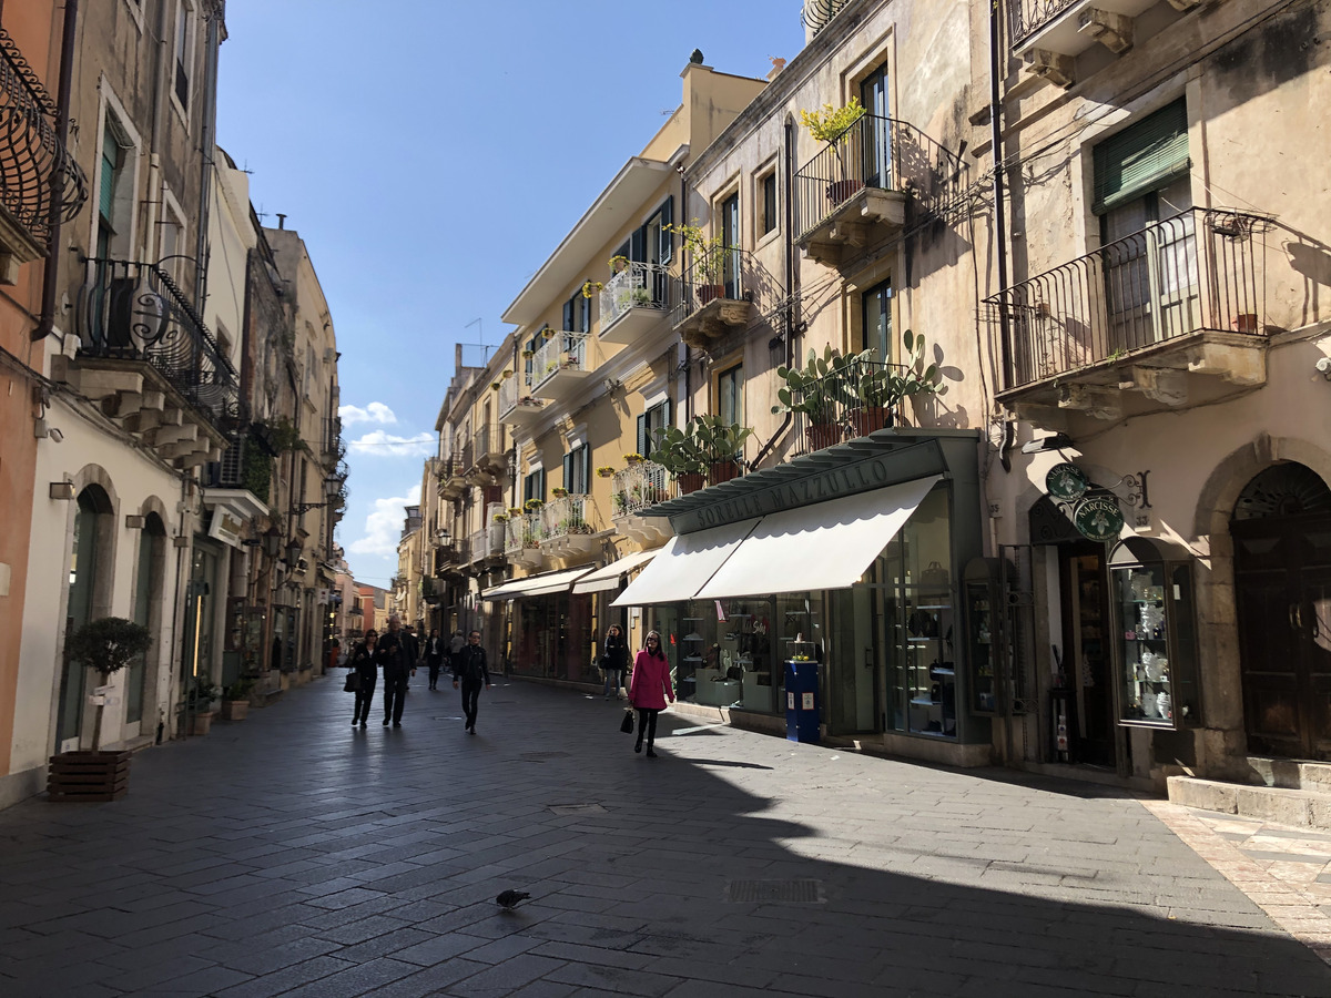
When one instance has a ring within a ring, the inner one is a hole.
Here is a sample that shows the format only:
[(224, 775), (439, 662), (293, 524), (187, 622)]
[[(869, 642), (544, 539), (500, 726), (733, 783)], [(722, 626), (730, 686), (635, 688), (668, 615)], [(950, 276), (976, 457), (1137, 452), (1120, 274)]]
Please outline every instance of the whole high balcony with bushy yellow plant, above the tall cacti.
[(908, 224), (948, 216), (965, 170), (914, 125), (865, 114), (795, 174), (795, 244), (841, 266)]

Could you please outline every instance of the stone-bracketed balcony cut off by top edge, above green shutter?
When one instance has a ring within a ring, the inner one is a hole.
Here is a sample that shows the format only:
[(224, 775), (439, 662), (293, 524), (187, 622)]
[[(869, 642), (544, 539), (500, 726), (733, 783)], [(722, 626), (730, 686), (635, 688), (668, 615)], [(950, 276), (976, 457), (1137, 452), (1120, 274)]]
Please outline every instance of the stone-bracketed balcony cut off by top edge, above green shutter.
[[(1169, 0), (1189, 11), (1201, 0)], [(1008, 0), (1008, 37), (1026, 71), (1051, 83), (1073, 83), (1071, 60), (1099, 43), (1110, 52), (1131, 48), (1135, 19), (1157, 0)]]

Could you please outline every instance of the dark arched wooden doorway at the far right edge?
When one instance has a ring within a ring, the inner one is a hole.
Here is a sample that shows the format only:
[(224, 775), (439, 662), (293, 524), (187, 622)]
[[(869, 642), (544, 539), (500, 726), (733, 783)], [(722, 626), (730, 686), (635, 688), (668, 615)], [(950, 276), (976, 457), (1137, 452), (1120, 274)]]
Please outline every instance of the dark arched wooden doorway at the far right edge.
[(1272, 464), (1239, 495), (1230, 534), (1248, 750), (1331, 760), (1331, 488)]

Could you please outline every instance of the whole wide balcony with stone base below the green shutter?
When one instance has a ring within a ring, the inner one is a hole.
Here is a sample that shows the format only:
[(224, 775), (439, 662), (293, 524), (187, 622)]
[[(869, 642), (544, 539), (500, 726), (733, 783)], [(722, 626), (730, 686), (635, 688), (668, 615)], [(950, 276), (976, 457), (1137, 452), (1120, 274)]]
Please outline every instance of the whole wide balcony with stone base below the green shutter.
[(1266, 382), (1271, 221), (1194, 209), (985, 301), (1004, 358), (998, 399), (1066, 428), (1186, 409)]

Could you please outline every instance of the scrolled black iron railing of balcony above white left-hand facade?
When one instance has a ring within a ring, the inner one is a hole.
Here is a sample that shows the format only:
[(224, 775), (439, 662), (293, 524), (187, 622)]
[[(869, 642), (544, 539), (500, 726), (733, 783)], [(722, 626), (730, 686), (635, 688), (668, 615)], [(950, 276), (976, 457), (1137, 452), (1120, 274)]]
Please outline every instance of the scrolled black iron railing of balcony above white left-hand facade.
[(160, 267), (89, 259), (77, 322), (80, 357), (144, 361), (216, 426), (238, 416), (236, 369)]

